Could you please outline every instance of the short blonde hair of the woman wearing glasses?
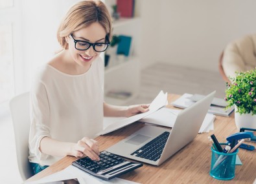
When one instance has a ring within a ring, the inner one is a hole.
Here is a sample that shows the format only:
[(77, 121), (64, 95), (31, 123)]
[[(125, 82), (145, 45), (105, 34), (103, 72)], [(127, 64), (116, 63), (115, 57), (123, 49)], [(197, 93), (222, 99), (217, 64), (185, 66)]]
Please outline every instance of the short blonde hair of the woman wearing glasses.
[(60, 23), (57, 39), (62, 48), (67, 49), (68, 43), (65, 37), (80, 30), (91, 23), (98, 22), (106, 30), (106, 36), (111, 41), (112, 22), (110, 12), (101, 1), (80, 1), (71, 6), (64, 19)]

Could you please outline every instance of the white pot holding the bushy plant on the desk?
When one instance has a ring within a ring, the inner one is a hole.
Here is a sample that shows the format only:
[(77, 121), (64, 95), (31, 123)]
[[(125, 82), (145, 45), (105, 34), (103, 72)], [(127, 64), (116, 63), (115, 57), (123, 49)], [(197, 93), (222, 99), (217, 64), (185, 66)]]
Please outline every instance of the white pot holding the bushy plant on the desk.
[(235, 125), (237, 129), (240, 128), (254, 128), (256, 129), (256, 115), (250, 114), (239, 114), (237, 112), (237, 106), (235, 106)]

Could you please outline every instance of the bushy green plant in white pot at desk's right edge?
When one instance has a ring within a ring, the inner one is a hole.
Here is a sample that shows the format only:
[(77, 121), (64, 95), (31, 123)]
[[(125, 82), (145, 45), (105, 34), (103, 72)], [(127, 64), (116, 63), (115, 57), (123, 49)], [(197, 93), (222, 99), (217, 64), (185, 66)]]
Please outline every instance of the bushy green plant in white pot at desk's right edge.
[(235, 105), (237, 128), (256, 128), (256, 69), (236, 75), (227, 83), (227, 107)]

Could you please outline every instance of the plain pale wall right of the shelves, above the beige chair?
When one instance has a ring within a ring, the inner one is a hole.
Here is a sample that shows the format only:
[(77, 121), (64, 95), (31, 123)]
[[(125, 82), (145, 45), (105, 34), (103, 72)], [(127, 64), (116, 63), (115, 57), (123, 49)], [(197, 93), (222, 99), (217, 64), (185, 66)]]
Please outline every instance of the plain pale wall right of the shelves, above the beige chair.
[(155, 60), (217, 71), (226, 44), (256, 32), (255, 0), (149, 0), (143, 6), (143, 41), (152, 41), (143, 66)]

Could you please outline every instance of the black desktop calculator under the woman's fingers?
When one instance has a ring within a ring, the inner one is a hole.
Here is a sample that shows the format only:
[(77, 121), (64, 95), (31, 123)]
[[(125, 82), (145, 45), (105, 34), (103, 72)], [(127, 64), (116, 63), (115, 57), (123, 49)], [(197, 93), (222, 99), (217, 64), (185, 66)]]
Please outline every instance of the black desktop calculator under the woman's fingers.
[(142, 163), (134, 163), (107, 151), (100, 152), (100, 161), (88, 157), (73, 161), (72, 165), (98, 178), (109, 180), (130, 170), (142, 167)]

